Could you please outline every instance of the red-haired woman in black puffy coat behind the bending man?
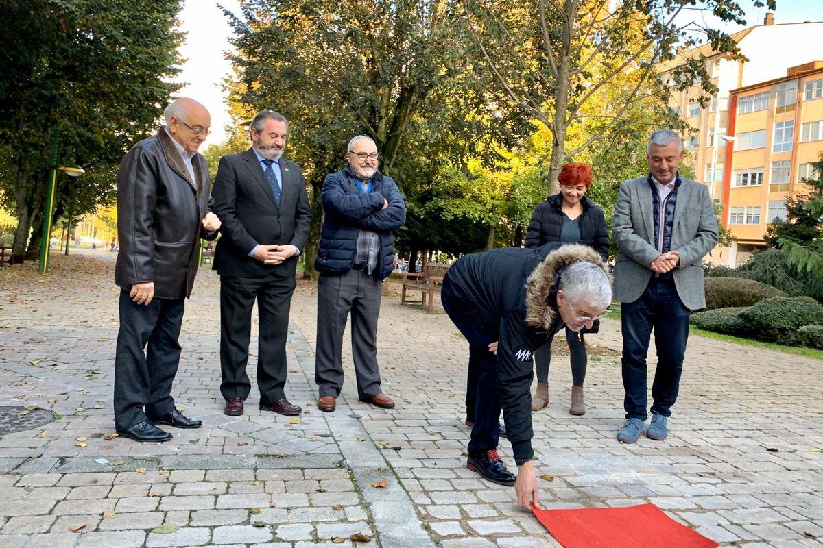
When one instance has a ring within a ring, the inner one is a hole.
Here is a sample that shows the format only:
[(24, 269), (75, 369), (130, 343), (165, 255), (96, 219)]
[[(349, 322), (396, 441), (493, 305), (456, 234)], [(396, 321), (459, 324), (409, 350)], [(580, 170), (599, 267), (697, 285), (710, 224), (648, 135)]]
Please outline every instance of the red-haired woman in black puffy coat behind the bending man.
[[(586, 197), (592, 186), (592, 168), (585, 163), (567, 163), (560, 170), (557, 181), (560, 193), (549, 196), (534, 208), (526, 232), (526, 247), (538, 247), (549, 242), (582, 243), (591, 246), (603, 260), (609, 255), (609, 236), (603, 211)], [(583, 383), (586, 378), (588, 354), (583, 334), (566, 328), (566, 341), (571, 353), (571, 406), (572, 415), (586, 412)], [(549, 364), (551, 338), (534, 354), (537, 369), (537, 389), (532, 397), (532, 410), (538, 411), (549, 403)]]

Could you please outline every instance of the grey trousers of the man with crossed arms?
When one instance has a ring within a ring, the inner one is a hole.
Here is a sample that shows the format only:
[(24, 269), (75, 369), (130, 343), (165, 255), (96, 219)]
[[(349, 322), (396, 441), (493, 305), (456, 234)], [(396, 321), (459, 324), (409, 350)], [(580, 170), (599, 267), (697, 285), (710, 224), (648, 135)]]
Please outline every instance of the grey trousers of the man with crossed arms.
[(377, 365), (377, 318), (383, 282), (363, 270), (320, 274), (317, 284), (317, 352), (314, 382), (321, 396), (337, 398), (343, 388), (343, 331), (351, 311), (351, 353), (358, 398), (374, 398), (380, 389)]

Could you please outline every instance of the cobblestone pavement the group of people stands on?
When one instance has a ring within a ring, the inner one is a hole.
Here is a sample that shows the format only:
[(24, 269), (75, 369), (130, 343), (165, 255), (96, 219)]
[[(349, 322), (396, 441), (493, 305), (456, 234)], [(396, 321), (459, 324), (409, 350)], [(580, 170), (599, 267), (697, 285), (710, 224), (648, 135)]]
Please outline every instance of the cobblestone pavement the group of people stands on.
[[(219, 280), (203, 269), (173, 394), (204, 426), (172, 429), (165, 444), (106, 440), (113, 257), (54, 256), (46, 277), (30, 265), (0, 269), (0, 406), (55, 414), (0, 438), (2, 548), (559, 546), (517, 508), (512, 488), (464, 467), (467, 348), (442, 311), (401, 307), (393, 283), (379, 358), (397, 408), (357, 401), (345, 347), (337, 411), (314, 407), (316, 291), (300, 283), (286, 385), (304, 408), (300, 421), (259, 412), (256, 389), (243, 417), (224, 416)], [(542, 503), (650, 501), (723, 546), (823, 547), (823, 361), (692, 338), (672, 435), (623, 445), (614, 439), (623, 415), (620, 325), (604, 324), (588, 339), (599, 349), (586, 415), (568, 414), (566, 356), (554, 359), (549, 407), (534, 414)], [(514, 467), (504, 440), (500, 449)], [(356, 533), (374, 539), (351, 541)]]

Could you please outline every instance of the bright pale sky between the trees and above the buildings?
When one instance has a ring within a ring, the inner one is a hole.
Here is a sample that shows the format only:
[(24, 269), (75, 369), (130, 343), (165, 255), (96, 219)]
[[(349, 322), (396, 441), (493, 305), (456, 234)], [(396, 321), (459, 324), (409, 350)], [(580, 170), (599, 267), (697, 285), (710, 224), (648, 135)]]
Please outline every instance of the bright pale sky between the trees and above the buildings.
[[(754, 0), (739, 2), (746, 12), (746, 25), (718, 25), (718, 21), (702, 13), (695, 19), (699, 18), (701, 25), (722, 28), (729, 34), (763, 23), (767, 12), (765, 7), (754, 7)], [(212, 135), (209, 136), (207, 145), (226, 140), (226, 125), (231, 122), (226, 108), (226, 93), (221, 89), (231, 72), (231, 63), (225, 58), (226, 52), (231, 48), (231, 28), (218, 4), (232, 13), (240, 13), (239, 0), (185, 0), (184, 9), (180, 13), (186, 40), (180, 47), (180, 54), (185, 62), (178, 76), (178, 81), (184, 84), (179, 94), (197, 99), (212, 114)], [(823, 21), (823, 2), (777, 0), (774, 20), (778, 24)]]

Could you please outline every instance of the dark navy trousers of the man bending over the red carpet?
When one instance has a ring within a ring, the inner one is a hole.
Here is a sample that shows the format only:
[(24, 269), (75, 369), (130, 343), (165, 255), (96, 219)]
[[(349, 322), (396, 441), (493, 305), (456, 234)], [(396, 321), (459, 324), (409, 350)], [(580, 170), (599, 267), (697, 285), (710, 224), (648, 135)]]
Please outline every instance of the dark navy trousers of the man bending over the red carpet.
[(443, 282), (440, 302), (468, 341), (466, 414), (470, 421), (474, 421), (468, 451), (477, 454), (497, 449), (500, 442), (500, 380), (497, 357), (489, 352), (489, 344), (496, 339), (487, 334), (486, 329), (481, 329), (472, 303), (458, 297), (448, 280)]

